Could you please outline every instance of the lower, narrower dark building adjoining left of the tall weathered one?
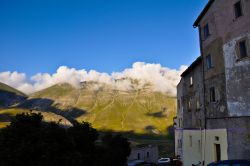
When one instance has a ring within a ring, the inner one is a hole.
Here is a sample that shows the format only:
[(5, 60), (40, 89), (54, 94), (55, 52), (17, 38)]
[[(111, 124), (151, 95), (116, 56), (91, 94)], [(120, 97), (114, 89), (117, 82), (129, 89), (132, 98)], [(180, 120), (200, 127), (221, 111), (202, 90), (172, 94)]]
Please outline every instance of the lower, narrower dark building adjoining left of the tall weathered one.
[[(202, 97), (202, 57), (198, 57), (182, 73), (181, 77), (182, 79), (177, 86), (176, 156), (182, 158), (183, 161), (188, 160), (189, 164), (193, 164), (196, 163), (197, 158), (200, 161), (202, 158), (200, 153), (202, 144), (201, 133), (205, 124)], [(192, 142), (190, 142), (190, 139), (192, 139)], [(187, 141), (190, 143), (186, 143)], [(190, 155), (184, 155), (189, 151), (192, 151)]]

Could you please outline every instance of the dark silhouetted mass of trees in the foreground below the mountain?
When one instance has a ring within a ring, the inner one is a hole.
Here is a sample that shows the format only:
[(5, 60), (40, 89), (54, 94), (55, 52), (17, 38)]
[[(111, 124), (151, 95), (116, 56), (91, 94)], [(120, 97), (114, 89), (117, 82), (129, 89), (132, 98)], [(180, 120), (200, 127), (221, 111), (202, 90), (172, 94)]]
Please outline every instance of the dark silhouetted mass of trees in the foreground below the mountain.
[(23, 113), (0, 130), (1, 166), (124, 166), (130, 153), (127, 139), (107, 135), (96, 144), (98, 132), (89, 123), (68, 129), (46, 123), (43, 116)]

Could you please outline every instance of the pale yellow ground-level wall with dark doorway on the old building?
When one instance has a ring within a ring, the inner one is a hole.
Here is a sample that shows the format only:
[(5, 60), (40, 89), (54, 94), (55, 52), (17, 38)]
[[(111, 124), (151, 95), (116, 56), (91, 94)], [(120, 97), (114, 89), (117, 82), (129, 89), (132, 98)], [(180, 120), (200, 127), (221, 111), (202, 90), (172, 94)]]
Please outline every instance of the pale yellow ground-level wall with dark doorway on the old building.
[[(219, 137), (219, 141), (215, 139)], [(192, 164), (205, 165), (214, 162), (215, 144), (221, 146), (221, 159), (227, 160), (227, 131), (226, 129), (216, 130), (184, 130), (183, 131), (183, 164), (191, 166)]]

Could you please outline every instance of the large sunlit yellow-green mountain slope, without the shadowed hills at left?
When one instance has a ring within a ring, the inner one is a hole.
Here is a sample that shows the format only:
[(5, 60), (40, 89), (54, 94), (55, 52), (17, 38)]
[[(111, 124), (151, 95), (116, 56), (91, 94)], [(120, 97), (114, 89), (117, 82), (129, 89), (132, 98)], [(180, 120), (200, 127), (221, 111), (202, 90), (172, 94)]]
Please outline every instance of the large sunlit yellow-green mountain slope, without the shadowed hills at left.
[[(107, 85), (98, 87), (88, 82), (81, 88), (58, 84), (32, 94), (31, 104), (42, 110), (58, 109), (71, 112), (78, 121), (88, 121), (99, 130), (134, 132), (136, 134), (165, 135), (175, 116), (175, 98), (151, 91), (150, 85), (131, 91), (114, 90)], [(43, 100), (53, 101), (50, 107)], [(75, 110), (76, 114), (72, 110)], [(82, 114), (79, 112), (82, 111)]]

